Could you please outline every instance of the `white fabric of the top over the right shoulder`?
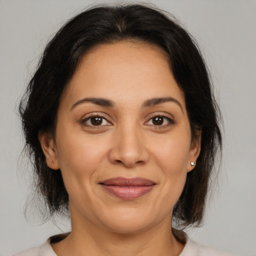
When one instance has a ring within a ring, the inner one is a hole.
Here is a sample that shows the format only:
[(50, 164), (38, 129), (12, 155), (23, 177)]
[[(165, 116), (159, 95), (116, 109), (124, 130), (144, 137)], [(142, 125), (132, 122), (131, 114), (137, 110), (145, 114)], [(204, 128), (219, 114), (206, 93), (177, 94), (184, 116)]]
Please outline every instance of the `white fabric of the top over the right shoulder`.
[(186, 245), (179, 256), (235, 256), (232, 253), (214, 249), (187, 238)]

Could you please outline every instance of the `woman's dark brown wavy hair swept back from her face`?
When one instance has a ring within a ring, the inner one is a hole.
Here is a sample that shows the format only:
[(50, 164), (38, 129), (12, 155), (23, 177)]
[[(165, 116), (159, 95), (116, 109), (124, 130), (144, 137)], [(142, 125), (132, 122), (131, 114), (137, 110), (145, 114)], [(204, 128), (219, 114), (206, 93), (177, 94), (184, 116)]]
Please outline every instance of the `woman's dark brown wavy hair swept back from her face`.
[(169, 14), (147, 5), (92, 7), (70, 19), (46, 45), (19, 106), (37, 192), (50, 216), (68, 211), (61, 172), (47, 166), (37, 134), (43, 130), (54, 135), (61, 93), (81, 56), (96, 44), (123, 40), (151, 43), (167, 53), (170, 71), (185, 94), (192, 136), (201, 130), (196, 166), (187, 173), (183, 192), (173, 209), (177, 223), (197, 225), (203, 217), (215, 154), (221, 148), (219, 111), (207, 67), (192, 36)]

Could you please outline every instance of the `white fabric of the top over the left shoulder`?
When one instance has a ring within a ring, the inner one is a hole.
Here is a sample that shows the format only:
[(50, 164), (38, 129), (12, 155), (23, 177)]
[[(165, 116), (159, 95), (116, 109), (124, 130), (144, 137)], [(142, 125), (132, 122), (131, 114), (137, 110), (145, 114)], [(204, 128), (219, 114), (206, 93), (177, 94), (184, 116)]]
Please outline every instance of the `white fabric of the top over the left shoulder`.
[(49, 239), (43, 244), (15, 253), (12, 256), (57, 256), (49, 244)]

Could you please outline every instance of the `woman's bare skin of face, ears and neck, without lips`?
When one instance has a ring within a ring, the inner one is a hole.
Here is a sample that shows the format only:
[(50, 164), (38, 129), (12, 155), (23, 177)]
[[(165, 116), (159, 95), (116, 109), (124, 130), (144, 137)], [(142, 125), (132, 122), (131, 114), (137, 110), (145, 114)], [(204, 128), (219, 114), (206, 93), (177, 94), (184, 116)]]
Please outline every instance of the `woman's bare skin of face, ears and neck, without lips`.
[[(114, 106), (79, 101), (88, 97)], [(143, 106), (155, 97), (176, 101)], [(102, 124), (92, 125), (91, 115), (101, 116)], [(163, 123), (155, 125), (155, 116)], [(55, 137), (39, 132), (38, 138), (48, 166), (61, 169), (69, 195), (72, 231), (51, 244), (57, 255), (181, 252), (184, 245), (171, 233), (172, 209), (200, 139), (191, 139), (184, 93), (162, 49), (127, 41), (92, 48), (61, 96)], [(113, 177), (142, 177), (155, 185), (127, 200), (98, 184)]]

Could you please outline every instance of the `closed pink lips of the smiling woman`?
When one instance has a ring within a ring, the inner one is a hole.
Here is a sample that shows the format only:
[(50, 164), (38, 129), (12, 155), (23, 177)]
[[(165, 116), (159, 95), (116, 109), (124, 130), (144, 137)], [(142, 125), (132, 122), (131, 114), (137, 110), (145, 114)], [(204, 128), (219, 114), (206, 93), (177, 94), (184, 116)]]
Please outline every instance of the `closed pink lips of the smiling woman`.
[(116, 177), (100, 181), (99, 184), (109, 193), (122, 198), (134, 199), (148, 193), (155, 183), (144, 178)]

